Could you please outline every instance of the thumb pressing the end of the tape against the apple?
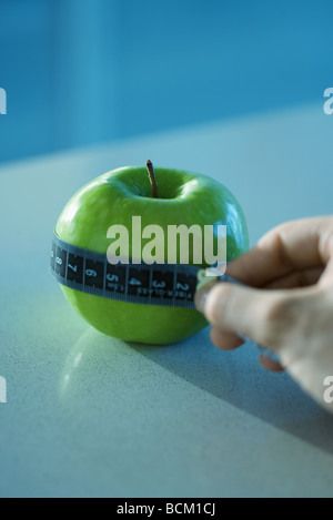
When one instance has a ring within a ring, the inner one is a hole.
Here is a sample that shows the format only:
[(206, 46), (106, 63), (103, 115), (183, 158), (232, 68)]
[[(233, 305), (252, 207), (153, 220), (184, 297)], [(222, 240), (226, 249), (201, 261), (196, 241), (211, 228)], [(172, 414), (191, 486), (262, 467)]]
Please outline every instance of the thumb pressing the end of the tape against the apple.
[(297, 312), (296, 299), (291, 292), (286, 296), (284, 290), (254, 289), (218, 282), (196, 293), (195, 305), (219, 328), (278, 349), (279, 338), (291, 322), (290, 313), (294, 315)]

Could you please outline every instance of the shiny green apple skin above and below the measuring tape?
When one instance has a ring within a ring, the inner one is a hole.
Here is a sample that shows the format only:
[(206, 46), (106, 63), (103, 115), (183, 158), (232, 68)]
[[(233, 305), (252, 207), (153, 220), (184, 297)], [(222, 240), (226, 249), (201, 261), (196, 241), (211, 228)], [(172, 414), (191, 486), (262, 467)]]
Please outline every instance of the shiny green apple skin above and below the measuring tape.
[[(248, 249), (243, 212), (225, 186), (206, 175), (182, 170), (155, 167), (155, 175), (159, 198), (152, 198), (145, 167), (121, 167), (97, 177), (68, 202), (56, 233), (72, 245), (107, 253), (110, 245), (108, 228), (122, 224), (131, 231), (132, 216), (141, 215), (142, 228), (158, 224), (164, 233), (169, 224), (185, 224), (189, 227), (199, 224), (202, 230), (203, 225), (226, 225), (228, 262)], [(167, 253), (165, 247), (165, 263)], [(117, 302), (63, 285), (61, 288), (72, 307), (94, 328), (127, 341), (172, 344), (208, 325), (203, 315), (195, 309)]]

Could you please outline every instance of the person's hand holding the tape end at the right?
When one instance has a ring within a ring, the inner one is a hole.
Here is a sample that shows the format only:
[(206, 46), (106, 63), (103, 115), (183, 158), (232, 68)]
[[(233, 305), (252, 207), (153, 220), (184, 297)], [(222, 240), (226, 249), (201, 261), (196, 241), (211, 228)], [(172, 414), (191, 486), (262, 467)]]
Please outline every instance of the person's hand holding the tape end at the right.
[(275, 227), (230, 263), (226, 274), (250, 287), (218, 282), (195, 296), (212, 324), (213, 344), (236, 348), (240, 333), (278, 353), (281, 364), (261, 355), (262, 366), (286, 368), (333, 411), (323, 397), (324, 380), (333, 377), (333, 216)]

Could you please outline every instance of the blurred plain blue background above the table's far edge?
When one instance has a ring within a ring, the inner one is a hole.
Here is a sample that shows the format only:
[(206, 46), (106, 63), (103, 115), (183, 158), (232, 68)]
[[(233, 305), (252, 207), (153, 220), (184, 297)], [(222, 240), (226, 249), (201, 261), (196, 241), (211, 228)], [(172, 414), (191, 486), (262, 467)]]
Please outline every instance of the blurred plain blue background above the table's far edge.
[(333, 2), (0, 0), (0, 161), (322, 100)]

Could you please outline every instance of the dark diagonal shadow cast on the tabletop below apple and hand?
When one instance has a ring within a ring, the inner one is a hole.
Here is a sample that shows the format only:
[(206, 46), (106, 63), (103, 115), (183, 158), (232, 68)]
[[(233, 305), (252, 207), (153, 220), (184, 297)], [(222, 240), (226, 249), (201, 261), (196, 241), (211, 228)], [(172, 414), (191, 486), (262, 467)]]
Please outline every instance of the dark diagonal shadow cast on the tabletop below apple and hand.
[(236, 408), (333, 453), (333, 416), (284, 373), (259, 364), (256, 345), (233, 351), (215, 348), (204, 329), (164, 347), (131, 344), (142, 356)]

